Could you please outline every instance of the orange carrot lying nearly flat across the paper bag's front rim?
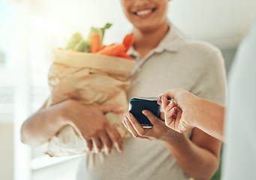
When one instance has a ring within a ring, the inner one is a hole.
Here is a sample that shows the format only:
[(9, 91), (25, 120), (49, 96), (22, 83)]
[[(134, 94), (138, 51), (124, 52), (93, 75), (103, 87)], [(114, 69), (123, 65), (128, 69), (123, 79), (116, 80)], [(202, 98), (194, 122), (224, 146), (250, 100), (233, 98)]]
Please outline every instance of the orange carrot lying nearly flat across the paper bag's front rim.
[(119, 44), (113, 44), (111, 46), (106, 46), (104, 49), (98, 51), (97, 54), (118, 56), (118, 55), (122, 55), (124, 52), (125, 52), (124, 44), (119, 43)]

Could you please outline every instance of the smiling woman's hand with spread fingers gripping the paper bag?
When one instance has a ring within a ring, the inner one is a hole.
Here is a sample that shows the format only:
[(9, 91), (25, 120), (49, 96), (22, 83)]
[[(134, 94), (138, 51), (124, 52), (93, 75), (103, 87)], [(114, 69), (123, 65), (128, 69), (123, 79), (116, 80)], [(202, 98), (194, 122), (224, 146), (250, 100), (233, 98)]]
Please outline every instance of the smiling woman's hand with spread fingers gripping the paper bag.
[(123, 151), (121, 136), (104, 116), (108, 112), (122, 113), (122, 110), (113, 105), (87, 105), (74, 100), (63, 103), (63, 118), (82, 134), (90, 151), (92, 147), (98, 151), (104, 148), (106, 154), (110, 154), (112, 144), (119, 152)]

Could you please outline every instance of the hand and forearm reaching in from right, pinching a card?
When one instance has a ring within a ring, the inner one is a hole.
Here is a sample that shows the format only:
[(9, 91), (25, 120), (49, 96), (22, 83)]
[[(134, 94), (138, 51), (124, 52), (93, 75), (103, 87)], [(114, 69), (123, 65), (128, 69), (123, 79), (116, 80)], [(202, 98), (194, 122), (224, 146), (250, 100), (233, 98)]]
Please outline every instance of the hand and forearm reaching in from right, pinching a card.
[[(225, 107), (203, 98), (197, 98), (182, 89), (169, 89), (160, 97), (167, 127), (182, 133), (197, 127), (223, 141)], [(171, 115), (173, 105), (167, 102), (167, 98), (174, 98), (176, 106), (179, 107), (176, 109), (176, 115), (178, 115), (176, 118)], [(170, 123), (173, 119), (174, 123)]]

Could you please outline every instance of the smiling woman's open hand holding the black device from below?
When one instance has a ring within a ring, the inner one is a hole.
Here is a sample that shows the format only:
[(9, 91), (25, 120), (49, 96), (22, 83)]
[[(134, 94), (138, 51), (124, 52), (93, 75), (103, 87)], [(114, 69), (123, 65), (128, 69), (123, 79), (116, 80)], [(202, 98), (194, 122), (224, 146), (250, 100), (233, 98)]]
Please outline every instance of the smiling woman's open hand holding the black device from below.
[[(131, 113), (124, 114), (124, 120), (122, 122), (134, 137), (149, 140), (160, 139), (163, 141), (170, 141), (176, 138), (176, 136), (179, 136), (179, 133), (176, 133), (174, 130), (167, 127), (163, 120), (153, 115), (150, 111), (143, 110), (143, 114), (146, 115), (146, 117), (149, 118), (149, 121), (153, 124), (152, 128), (143, 128), (137, 119), (134, 118), (134, 115)], [(161, 113), (161, 118), (164, 118), (164, 113)]]

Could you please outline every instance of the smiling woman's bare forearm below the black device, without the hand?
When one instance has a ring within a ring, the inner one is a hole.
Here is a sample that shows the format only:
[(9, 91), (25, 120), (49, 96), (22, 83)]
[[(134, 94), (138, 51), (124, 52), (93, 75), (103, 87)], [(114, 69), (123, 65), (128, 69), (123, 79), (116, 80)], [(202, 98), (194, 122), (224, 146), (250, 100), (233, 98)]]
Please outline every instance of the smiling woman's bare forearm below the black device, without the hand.
[(185, 134), (179, 139), (164, 141), (183, 171), (195, 179), (209, 179), (218, 169), (218, 157), (206, 148), (200, 148)]

